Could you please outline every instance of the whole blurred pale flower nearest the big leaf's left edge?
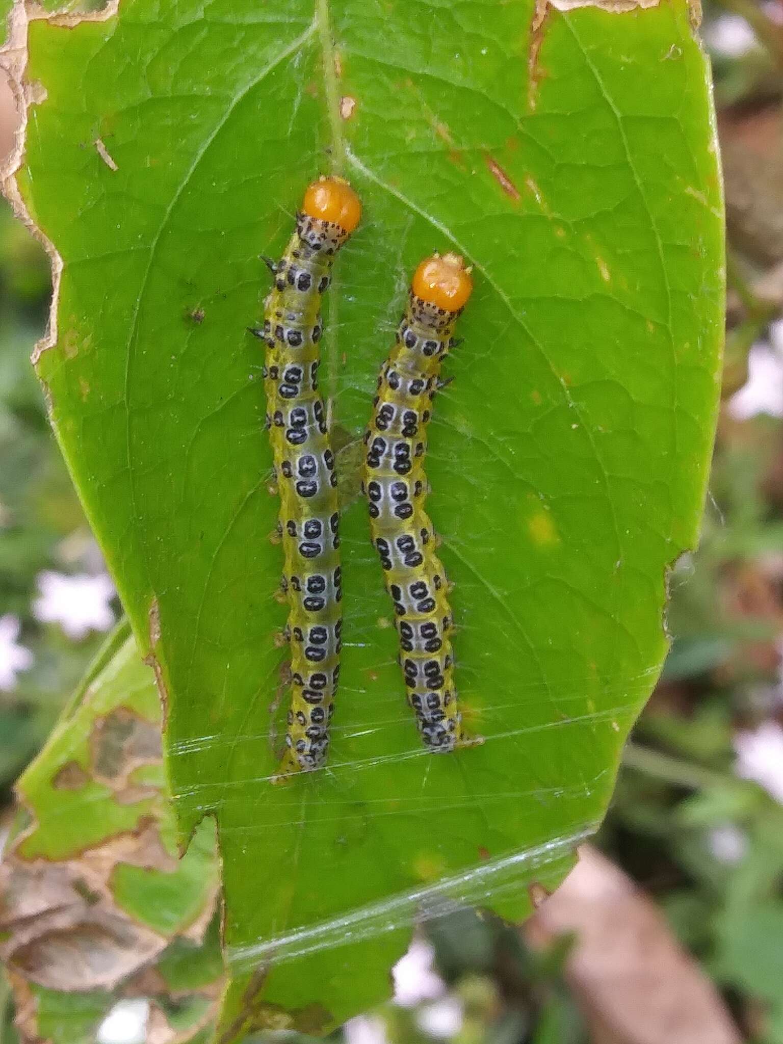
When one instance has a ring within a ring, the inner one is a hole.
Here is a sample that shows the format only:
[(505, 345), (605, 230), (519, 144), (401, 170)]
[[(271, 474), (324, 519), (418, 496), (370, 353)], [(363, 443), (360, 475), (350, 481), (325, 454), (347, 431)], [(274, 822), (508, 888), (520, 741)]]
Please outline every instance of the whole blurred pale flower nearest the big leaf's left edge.
[(114, 623), (109, 606), (114, 584), (105, 573), (67, 576), (46, 571), (39, 573), (38, 586), (41, 597), (32, 606), (35, 618), (58, 623), (69, 638), (78, 640), (90, 631), (109, 631)]

